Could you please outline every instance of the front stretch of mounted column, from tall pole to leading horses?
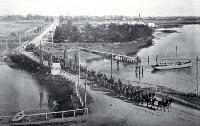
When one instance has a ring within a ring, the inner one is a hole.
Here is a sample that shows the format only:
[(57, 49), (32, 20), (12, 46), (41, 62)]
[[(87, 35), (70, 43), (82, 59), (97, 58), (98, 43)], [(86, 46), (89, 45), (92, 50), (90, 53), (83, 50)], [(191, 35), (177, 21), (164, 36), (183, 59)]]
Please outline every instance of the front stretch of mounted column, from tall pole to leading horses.
[[(86, 67), (81, 66), (81, 71), (86, 72)], [(140, 86), (127, 85), (120, 79), (115, 81), (114, 77), (107, 77), (100, 72), (96, 73), (93, 70), (87, 70), (87, 78), (90, 85), (97, 85), (98, 89), (104, 88), (109, 91), (114, 91), (118, 97), (125, 97), (127, 100), (138, 105), (151, 107), (153, 109), (163, 108), (169, 109), (174, 101), (172, 97), (163, 96), (161, 100), (155, 97), (154, 91), (147, 91)]]

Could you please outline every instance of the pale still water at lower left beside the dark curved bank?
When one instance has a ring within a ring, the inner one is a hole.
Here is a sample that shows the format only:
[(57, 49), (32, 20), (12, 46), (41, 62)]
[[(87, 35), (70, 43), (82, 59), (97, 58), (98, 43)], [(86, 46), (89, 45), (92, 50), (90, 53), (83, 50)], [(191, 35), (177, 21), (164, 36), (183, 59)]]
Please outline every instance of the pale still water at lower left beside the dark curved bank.
[(47, 109), (47, 95), (32, 75), (0, 65), (0, 115)]

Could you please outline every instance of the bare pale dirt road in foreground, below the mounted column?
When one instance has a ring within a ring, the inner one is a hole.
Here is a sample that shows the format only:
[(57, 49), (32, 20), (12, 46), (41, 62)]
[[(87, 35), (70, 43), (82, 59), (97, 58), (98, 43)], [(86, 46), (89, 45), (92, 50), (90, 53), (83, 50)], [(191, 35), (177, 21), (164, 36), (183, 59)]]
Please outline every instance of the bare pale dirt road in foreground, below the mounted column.
[(88, 121), (78, 126), (199, 126), (200, 111), (172, 104), (166, 112), (136, 106), (110, 95), (107, 91), (98, 91), (88, 87), (93, 103)]

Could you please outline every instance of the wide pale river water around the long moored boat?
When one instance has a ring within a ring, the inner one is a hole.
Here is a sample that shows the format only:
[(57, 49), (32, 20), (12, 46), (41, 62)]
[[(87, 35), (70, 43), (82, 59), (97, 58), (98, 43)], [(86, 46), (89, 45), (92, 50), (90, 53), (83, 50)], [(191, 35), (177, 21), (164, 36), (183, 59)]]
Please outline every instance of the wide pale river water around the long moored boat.
[[(144, 66), (143, 77), (136, 76), (135, 65), (120, 63), (120, 69), (117, 70), (116, 62), (113, 63), (113, 76), (126, 80), (173, 87), (181, 91), (195, 92), (197, 89), (195, 59), (200, 54), (200, 25), (185, 25), (181, 28), (170, 29), (176, 30), (176, 33), (162, 33), (160, 30), (157, 29), (154, 33), (153, 46), (143, 48), (137, 53), (138, 56), (142, 57), (141, 65)], [(192, 67), (153, 71), (150, 65), (156, 63), (156, 55), (158, 55), (159, 62), (173, 62), (174, 59), (178, 58), (191, 59), (193, 62)], [(147, 62), (148, 56), (150, 57), (149, 65)], [(109, 59), (104, 58), (86, 60), (87, 66), (107, 75), (111, 73), (110, 62)]]

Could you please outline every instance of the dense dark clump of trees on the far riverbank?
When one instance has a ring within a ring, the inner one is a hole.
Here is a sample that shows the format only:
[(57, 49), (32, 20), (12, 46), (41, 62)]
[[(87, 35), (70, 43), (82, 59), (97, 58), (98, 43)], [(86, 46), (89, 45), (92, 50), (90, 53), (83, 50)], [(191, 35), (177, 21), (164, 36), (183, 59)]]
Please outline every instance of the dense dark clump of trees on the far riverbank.
[(153, 30), (146, 25), (102, 24), (92, 26), (86, 23), (78, 29), (68, 21), (55, 31), (54, 41), (64, 42), (130, 42), (141, 37), (152, 36)]

